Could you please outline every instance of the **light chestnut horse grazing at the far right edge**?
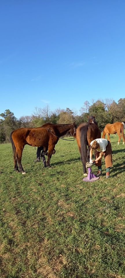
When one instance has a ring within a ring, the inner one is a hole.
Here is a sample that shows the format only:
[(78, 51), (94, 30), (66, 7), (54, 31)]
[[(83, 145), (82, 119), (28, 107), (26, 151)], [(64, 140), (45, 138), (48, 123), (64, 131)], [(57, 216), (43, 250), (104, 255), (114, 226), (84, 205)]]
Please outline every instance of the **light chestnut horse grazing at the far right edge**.
[(107, 135), (107, 140), (110, 141), (110, 134), (116, 134), (119, 137), (118, 145), (120, 144), (121, 137), (123, 138), (123, 145), (125, 143), (125, 136), (124, 136), (124, 129), (125, 129), (125, 122), (115, 122), (114, 124), (107, 124), (104, 128), (102, 138), (105, 139)]

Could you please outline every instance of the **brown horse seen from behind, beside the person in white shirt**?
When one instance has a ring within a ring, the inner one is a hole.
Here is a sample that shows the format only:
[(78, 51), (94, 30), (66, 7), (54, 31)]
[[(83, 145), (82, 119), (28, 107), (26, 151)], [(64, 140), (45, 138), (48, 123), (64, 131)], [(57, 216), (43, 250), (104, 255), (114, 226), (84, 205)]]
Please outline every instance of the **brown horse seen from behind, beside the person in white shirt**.
[(89, 162), (90, 158), (90, 143), (94, 139), (101, 138), (101, 131), (95, 121), (95, 116), (87, 116), (88, 122), (83, 122), (76, 130), (76, 140), (83, 164), (84, 175), (87, 175), (86, 162)]

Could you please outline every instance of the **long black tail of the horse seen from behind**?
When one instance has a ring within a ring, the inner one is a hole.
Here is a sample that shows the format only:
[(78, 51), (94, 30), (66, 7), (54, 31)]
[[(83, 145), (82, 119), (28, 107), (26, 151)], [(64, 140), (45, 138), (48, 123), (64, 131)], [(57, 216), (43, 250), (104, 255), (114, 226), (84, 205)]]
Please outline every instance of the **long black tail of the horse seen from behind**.
[(81, 128), (80, 144), (81, 144), (81, 160), (84, 165), (87, 162), (87, 130), (88, 125)]

